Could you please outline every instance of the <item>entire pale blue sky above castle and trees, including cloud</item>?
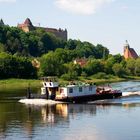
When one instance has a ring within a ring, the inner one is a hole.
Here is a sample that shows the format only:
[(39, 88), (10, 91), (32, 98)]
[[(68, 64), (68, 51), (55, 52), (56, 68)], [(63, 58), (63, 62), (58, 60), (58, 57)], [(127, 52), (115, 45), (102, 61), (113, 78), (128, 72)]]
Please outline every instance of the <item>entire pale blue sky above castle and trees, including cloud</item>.
[(17, 26), (30, 18), (33, 25), (68, 30), (68, 38), (102, 44), (123, 54), (128, 40), (140, 55), (140, 0), (0, 0), (0, 18)]

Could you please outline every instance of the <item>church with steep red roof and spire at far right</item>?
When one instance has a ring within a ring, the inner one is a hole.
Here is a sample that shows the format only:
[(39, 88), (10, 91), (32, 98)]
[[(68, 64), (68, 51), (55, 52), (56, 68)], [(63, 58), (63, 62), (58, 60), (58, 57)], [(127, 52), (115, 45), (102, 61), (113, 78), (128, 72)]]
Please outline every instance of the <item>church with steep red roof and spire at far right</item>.
[(126, 41), (126, 44), (124, 45), (124, 58), (128, 59), (128, 58), (134, 58), (137, 59), (139, 56), (138, 54), (135, 52), (135, 50), (133, 48), (130, 48), (128, 41)]

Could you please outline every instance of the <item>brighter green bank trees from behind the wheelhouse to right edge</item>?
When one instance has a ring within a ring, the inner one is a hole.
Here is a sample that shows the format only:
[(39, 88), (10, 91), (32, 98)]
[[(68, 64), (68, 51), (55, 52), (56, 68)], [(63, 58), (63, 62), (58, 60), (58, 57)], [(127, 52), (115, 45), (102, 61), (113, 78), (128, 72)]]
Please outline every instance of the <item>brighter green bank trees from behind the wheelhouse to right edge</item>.
[[(39, 75), (55, 75), (65, 80), (78, 79), (79, 76), (109, 79), (113, 76), (140, 76), (140, 58), (125, 60), (123, 56), (109, 55), (106, 59), (89, 57), (84, 66), (74, 64), (72, 52), (56, 49), (40, 58)], [(85, 58), (83, 58), (85, 59)]]

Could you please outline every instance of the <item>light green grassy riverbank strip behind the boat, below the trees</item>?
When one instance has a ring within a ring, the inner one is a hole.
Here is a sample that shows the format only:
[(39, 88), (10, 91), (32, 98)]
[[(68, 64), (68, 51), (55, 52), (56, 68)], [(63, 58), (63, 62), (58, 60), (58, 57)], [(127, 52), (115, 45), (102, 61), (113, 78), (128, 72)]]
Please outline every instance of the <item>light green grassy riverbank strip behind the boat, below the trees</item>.
[[(125, 77), (119, 78), (114, 77), (111, 79), (94, 79), (92, 77), (79, 77), (77, 82), (85, 82), (85, 83), (96, 83), (97, 85), (101, 84), (108, 84), (114, 82), (122, 82), (122, 81), (129, 81), (129, 80), (140, 80), (140, 77)], [(67, 85), (70, 81), (64, 81), (63, 79), (58, 79), (60, 85)], [(75, 81), (75, 80), (74, 80)], [(18, 90), (18, 89), (27, 89), (28, 87), (31, 89), (40, 88), (41, 80), (37, 79), (4, 79), (0, 80), (0, 92), (7, 91), (7, 90)]]

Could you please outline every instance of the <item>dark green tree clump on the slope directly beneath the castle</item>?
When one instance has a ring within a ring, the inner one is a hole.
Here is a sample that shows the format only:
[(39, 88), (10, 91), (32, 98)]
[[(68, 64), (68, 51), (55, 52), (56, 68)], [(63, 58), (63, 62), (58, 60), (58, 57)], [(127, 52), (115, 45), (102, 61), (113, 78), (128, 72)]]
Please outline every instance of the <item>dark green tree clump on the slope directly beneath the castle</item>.
[(4, 45), (6, 52), (21, 56), (41, 56), (50, 50), (64, 48), (64, 43), (53, 34), (45, 30), (37, 29), (25, 33), (16, 27), (0, 27), (0, 43)]

